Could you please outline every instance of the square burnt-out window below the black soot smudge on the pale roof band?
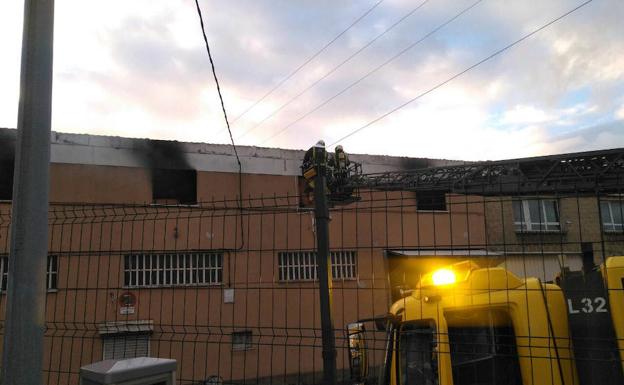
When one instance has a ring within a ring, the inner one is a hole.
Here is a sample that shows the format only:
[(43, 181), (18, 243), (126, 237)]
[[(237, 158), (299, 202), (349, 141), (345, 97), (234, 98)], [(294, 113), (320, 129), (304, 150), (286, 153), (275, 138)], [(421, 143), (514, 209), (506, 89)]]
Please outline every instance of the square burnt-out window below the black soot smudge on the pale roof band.
[(152, 200), (160, 204), (197, 203), (197, 171), (152, 170)]

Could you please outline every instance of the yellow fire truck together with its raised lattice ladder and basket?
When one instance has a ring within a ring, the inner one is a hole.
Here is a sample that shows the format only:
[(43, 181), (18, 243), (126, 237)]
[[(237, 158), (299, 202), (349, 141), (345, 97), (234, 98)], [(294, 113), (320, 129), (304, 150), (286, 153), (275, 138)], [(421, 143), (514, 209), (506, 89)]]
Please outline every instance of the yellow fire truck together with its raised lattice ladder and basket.
[[(325, 159), (331, 204), (366, 190), (437, 191), (476, 196), (621, 196), (624, 149), (365, 174), (357, 162)], [(304, 159), (308, 190), (317, 168)], [(353, 380), (370, 382), (365, 324), (386, 331), (379, 385), (623, 384), (624, 256), (553, 283), (521, 279), (471, 260), (428, 272), (386, 316), (347, 326)]]

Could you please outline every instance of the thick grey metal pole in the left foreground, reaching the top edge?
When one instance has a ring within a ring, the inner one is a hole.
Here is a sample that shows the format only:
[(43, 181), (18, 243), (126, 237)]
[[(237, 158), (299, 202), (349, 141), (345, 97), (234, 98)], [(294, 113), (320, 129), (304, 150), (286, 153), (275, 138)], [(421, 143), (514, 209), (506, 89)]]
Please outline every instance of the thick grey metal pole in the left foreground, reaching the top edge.
[(54, 0), (25, 0), (3, 385), (42, 384)]

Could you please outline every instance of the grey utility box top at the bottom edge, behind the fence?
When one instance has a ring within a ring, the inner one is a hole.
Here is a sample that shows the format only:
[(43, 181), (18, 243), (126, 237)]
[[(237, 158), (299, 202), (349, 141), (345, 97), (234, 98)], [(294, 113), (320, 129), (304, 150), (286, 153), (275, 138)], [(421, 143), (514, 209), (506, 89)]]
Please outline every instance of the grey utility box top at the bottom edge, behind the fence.
[(138, 357), (80, 368), (80, 385), (175, 385), (176, 360)]

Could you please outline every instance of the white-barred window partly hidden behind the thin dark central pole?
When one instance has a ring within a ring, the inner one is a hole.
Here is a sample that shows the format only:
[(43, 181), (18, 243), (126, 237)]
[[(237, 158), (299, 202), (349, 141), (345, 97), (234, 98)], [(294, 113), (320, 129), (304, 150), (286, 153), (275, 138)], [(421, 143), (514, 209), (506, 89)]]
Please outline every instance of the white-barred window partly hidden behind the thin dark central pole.
[[(357, 277), (357, 252), (353, 250), (332, 251), (331, 270), (333, 279)], [(278, 253), (280, 281), (314, 281), (317, 279), (315, 251), (284, 251)]]

